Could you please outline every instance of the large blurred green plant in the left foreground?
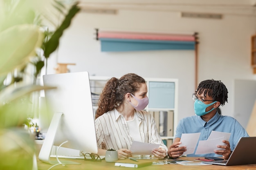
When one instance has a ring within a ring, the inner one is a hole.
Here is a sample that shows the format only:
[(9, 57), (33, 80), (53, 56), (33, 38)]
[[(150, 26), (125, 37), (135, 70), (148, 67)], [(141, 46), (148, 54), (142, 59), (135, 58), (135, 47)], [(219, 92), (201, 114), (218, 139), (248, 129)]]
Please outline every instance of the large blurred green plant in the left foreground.
[[(70, 6), (56, 0), (40, 0), (54, 7), (63, 20), (53, 31), (41, 31), (46, 15), (34, 0), (0, 0), (0, 169), (31, 170), (35, 154), (34, 138), (24, 128), (33, 105), (31, 95), (47, 88), (27, 82), (24, 75), (29, 64), (35, 66), (33, 78), (40, 74), (45, 60), (54, 52), (63, 31), (79, 11), (77, 3)], [(44, 16), (44, 17), (43, 17)], [(40, 55), (36, 53), (40, 49)], [(43, 56), (41, 55), (43, 51)], [(9, 76), (9, 82), (8, 80)]]

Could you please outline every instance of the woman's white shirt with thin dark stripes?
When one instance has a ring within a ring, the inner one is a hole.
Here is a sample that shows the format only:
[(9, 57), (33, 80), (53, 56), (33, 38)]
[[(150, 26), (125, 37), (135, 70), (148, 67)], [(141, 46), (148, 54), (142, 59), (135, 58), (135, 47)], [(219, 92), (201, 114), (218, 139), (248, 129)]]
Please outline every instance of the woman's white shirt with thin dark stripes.
[[(150, 144), (160, 144), (167, 152), (155, 125), (155, 119), (147, 111), (137, 111), (141, 141)], [(126, 119), (116, 109), (104, 113), (95, 120), (97, 146), (100, 149), (130, 149), (132, 137)]]

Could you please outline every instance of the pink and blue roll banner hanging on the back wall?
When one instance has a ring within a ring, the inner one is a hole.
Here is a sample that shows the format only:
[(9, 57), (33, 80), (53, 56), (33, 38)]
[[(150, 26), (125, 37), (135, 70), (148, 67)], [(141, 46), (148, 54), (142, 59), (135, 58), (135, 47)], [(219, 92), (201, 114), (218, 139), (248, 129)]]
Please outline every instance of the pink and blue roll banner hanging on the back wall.
[(134, 32), (97, 32), (101, 41), (101, 51), (150, 51), (150, 50), (195, 50), (194, 35), (134, 33)]

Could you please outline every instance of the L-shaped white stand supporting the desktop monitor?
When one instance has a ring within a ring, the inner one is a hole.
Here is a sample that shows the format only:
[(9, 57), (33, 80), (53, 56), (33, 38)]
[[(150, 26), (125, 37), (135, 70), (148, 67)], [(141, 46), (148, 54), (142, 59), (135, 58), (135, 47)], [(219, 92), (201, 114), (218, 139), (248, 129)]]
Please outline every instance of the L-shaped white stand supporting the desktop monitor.
[(60, 124), (61, 121), (61, 116), (63, 115), (62, 112), (56, 112), (54, 113), (53, 117), (52, 117), (52, 121), (50, 123), (50, 126), (48, 128), (47, 131), (47, 135), (45, 136), (45, 140), (43, 142), (42, 148), (39, 152), (39, 156), (38, 159), (42, 162), (45, 163), (49, 163), (52, 165), (55, 164), (81, 164), (81, 163), (77, 163), (74, 161), (52, 161), (50, 160), (50, 156), (51, 156), (51, 152), (52, 152), (52, 146), (54, 145), (54, 141), (55, 141), (55, 136), (56, 136), (56, 132), (58, 130), (58, 125)]

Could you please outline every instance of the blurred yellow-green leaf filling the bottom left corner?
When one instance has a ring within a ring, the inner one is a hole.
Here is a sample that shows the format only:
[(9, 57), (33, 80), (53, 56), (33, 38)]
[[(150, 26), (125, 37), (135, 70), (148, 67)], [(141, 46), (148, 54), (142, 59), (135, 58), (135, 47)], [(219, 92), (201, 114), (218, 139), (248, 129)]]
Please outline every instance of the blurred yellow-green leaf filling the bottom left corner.
[(34, 139), (24, 128), (0, 129), (0, 169), (32, 170)]

